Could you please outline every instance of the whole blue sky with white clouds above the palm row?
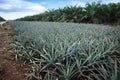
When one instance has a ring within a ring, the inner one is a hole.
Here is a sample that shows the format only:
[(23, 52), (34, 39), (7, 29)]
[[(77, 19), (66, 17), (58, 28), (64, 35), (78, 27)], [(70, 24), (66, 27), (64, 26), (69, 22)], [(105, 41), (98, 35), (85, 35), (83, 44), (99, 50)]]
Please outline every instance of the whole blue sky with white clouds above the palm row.
[(14, 20), (69, 5), (85, 6), (87, 2), (117, 3), (120, 0), (0, 0), (0, 16)]

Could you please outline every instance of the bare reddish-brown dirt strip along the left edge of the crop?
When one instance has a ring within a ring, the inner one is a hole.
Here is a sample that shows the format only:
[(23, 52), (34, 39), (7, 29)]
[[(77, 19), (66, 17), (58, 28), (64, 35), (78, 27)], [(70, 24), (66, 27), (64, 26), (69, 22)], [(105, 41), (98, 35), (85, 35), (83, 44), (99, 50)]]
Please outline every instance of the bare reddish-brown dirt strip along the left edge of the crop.
[(8, 41), (10, 40), (10, 26), (0, 28), (0, 65), (3, 71), (0, 72), (0, 80), (27, 80), (28, 66), (13, 60), (12, 50), (9, 49)]

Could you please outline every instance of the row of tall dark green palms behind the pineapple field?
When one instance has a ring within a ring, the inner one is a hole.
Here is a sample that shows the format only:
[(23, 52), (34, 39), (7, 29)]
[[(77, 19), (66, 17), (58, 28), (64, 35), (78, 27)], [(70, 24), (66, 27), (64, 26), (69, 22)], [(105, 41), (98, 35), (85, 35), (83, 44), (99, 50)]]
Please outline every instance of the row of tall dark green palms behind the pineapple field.
[(17, 20), (120, 24), (120, 3), (87, 3), (85, 7), (67, 6)]

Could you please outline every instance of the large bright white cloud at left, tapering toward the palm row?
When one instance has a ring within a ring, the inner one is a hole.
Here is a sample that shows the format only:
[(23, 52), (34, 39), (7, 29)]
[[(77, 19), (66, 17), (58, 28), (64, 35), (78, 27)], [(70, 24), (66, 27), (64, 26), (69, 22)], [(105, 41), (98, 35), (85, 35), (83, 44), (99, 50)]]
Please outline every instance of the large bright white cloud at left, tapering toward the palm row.
[(38, 14), (47, 10), (38, 3), (25, 0), (1, 0), (0, 5), (0, 16), (5, 19), (16, 19)]

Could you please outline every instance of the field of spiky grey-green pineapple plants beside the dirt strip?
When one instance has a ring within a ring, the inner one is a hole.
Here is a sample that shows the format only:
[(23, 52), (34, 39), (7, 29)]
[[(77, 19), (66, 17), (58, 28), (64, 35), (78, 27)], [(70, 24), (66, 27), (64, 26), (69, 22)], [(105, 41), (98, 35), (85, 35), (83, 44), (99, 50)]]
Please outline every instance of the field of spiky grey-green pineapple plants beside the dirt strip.
[(15, 59), (31, 80), (119, 80), (120, 27), (10, 21)]

